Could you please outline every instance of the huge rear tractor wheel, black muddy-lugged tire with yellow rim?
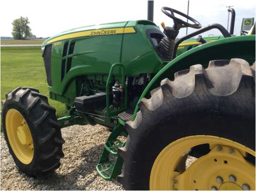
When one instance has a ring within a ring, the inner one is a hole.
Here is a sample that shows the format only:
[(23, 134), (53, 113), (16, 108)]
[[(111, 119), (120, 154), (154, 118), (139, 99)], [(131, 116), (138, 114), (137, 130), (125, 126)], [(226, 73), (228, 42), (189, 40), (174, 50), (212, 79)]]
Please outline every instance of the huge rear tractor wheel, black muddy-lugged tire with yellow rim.
[(191, 66), (139, 107), (119, 150), (126, 190), (255, 189), (255, 64)]

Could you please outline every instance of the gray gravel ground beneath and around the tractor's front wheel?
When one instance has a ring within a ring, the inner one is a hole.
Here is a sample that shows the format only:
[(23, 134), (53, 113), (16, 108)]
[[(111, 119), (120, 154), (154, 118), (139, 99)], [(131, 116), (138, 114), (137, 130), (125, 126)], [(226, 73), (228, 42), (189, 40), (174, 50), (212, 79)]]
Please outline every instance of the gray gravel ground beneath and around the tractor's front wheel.
[(16, 167), (1, 133), (1, 190), (124, 190), (115, 179), (105, 181), (96, 171), (110, 132), (101, 125), (73, 125), (62, 130), (65, 157), (50, 177), (27, 177)]

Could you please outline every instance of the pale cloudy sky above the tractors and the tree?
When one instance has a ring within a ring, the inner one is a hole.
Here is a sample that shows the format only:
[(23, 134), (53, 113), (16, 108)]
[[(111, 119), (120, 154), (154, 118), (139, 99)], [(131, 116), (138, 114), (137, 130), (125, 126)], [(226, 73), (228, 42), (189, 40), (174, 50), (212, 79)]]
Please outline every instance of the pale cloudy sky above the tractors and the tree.
[[(160, 26), (172, 26), (172, 20), (161, 12), (167, 6), (187, 12), (187, 0), (155, 0), (154, 22)], [(236, 10), (235, 35), (240, 34), (242, 18), (255, 17), (255, 0), (190, 0), (189, 16), (202, 26), (219, 23), (227, 28), (227, 5)], [(37, 37), (48, 37), (62, 31), (92, 24), (102, 24), (126, 20), (147, 19), (146, 0), (12, 0), (1, 2), (0, 36), (11, 36), (12, 21), (20, 16), (28, 17), (32, 33)], [(162, 30), (161, 26), (160, 29)], [(185, 34), (181, 29), (179, 37)], [(193, 29), (188, 29), (192, 32)], [(217, 30), (204, 33), (218, 35)]]

